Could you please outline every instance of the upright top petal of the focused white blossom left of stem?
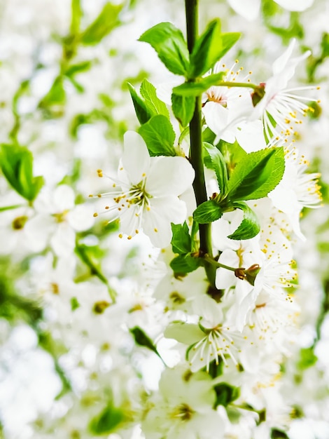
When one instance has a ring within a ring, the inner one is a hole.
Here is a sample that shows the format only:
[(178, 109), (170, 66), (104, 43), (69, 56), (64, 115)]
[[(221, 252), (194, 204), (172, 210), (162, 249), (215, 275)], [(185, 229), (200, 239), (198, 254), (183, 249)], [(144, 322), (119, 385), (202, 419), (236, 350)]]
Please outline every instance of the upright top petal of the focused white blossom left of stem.
[(130, 182), (138, 184), (150, 166), (150, 154), (143, 137), (134, 131), (127, 131), (123, 141), (123, 168), (129, 175)]

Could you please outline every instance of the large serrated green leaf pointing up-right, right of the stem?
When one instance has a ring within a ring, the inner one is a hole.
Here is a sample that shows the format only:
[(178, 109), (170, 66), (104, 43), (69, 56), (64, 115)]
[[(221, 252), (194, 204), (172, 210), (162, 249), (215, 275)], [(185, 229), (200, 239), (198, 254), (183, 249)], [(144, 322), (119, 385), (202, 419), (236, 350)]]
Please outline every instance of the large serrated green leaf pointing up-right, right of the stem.
[(283, 147), (247, 154), (230, 175), (228, 198), (239, 201), (267, 196), (281, 181), (284, 168)]

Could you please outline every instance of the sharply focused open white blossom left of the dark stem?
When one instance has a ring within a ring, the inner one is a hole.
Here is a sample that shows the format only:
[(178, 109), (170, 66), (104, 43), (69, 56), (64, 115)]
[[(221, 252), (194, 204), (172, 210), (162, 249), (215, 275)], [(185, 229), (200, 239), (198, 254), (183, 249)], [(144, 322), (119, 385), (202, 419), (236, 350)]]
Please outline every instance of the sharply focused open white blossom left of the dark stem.
[(186, 203), (179, 196), (190, 189), (194, 176), (186, 158), (151, 157), (143, 138), (127, 131), (118, 178), (110, 177), (113, 191), (99, 196), (111, 197), (105, 210), (112, 212), (112, 220), (120, 219), (120, 231), (128, 239), (143, 229), (155, 247), (166, 247), (172, 239), (171, 224), (186, 219)]

